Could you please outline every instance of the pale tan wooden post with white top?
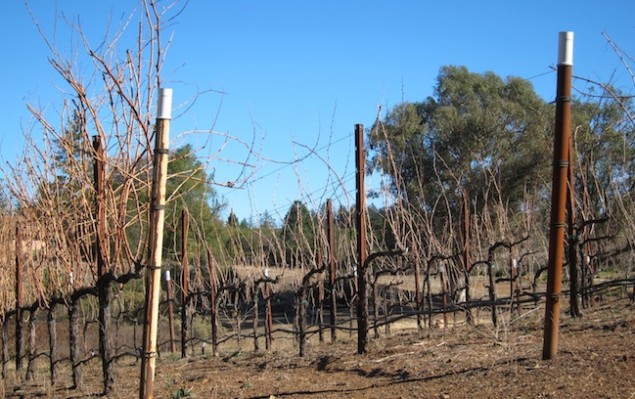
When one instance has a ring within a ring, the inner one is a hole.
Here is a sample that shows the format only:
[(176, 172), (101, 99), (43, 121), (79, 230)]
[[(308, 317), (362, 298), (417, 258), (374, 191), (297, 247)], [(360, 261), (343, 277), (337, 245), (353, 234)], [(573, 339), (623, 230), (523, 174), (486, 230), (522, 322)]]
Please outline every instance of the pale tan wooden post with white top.
[(159, 90), (157, 108), (152, 197), (150, 200), (150, 264), (146, 267), (146, 317), (143, 326), (143, 357), (141, 358), (139, 388), (139, 397), (142, 399), (154, 397), (172, 89)]

